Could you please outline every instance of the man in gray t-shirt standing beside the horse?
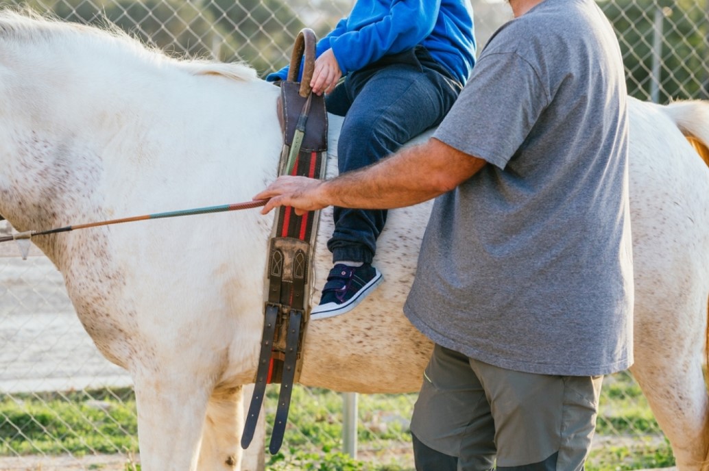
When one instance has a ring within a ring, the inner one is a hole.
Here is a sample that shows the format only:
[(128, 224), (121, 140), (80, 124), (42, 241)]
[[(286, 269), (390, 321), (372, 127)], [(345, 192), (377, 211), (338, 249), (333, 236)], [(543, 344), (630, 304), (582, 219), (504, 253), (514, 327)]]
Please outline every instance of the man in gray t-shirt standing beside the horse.
[(428, 143), (264, 208), (437, 197), (404, 311), (435, 341), (417, 470), (581, 470), (602, 375), (632, 363), (623, 62), (593, 0), (510, 0)]

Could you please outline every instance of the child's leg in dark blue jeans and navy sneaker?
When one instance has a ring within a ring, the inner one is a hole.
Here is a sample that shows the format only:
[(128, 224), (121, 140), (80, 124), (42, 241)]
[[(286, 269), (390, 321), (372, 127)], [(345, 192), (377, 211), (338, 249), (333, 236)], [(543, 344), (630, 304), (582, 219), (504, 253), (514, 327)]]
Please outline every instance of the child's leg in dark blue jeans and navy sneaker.
[[(403, 58), (408, 60), (398, 63), (390, 57), (381, 67), (347, 76), (330, 98), (337, 110), (349, 105), (337, 147), (340, 173), (372, 164), (437, 125), (457, 97), (454, 82), (420, 64), (413, 51)], [(371, 263), (386, 211), (335, 208), (334, 212), (335, 232), (328, 249), (336, 265), (311, 319), (352, 310), (382, 279)]]

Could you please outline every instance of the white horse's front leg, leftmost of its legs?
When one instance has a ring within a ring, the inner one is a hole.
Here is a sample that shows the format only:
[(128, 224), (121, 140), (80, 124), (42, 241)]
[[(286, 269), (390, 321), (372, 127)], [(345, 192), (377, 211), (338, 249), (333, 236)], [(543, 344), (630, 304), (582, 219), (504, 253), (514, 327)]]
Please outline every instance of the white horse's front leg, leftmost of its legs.
[(184, 372), (152, 373), (133, 378), (141, 469), (196, 471), (208, 388)]

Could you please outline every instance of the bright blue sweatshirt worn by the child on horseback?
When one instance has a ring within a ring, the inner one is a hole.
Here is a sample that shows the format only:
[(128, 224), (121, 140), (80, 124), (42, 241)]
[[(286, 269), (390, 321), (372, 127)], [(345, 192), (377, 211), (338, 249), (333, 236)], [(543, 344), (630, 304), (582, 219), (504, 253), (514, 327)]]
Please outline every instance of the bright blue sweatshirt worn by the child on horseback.
[[(318, 41), (316, 56), (332, 48), (345, 76), (418, 45), (464, 85), (475, 64), (469, 0), (357, 0), (350, 16)], [(285, 80), (287, 74), (286, 66), (266, 79)]]

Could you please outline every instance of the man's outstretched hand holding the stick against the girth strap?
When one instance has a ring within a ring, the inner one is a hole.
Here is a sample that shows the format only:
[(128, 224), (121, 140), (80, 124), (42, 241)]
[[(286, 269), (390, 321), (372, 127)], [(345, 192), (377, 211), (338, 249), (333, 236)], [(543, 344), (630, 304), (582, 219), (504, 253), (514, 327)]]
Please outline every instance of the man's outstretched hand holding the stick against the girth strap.
[(253, 199), (270, 198), (261, 214), (267, 214), (277, 206), (293, 206), (296, 215), (302, 216), (308, 211), (321, 210), (328, 206), (321, 203), (320, 189), (323, 183), (325, 182), (305, 176), (280, 176)]

